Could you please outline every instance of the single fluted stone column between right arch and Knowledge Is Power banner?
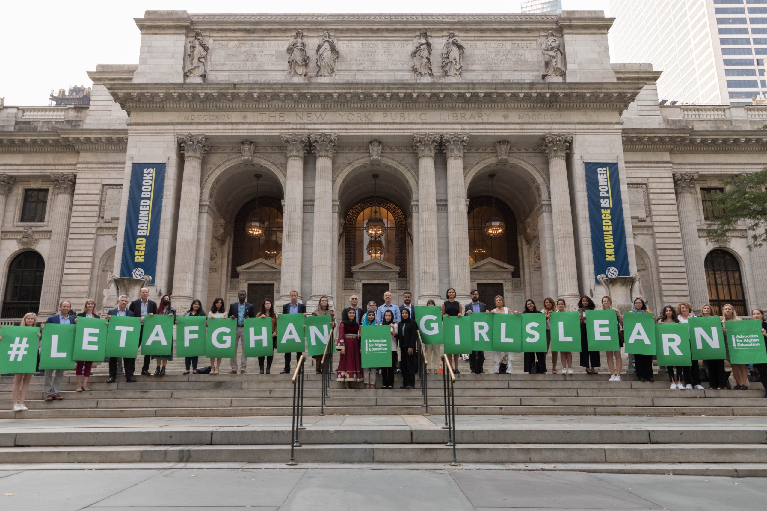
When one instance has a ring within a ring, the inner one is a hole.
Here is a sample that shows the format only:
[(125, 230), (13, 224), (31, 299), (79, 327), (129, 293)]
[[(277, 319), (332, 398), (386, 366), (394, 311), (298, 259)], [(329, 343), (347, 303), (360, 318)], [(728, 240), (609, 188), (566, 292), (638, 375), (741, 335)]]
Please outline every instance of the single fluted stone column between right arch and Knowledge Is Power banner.
[(554, 232), (554, 254), (557, 267), (557, 297), (564, 298), (568, 306), (577, 306), (578, 267), (575, 264), (575, 239), (570, 205), (568, 167), (565, 156), (570, 151), (573, 137), (551, 133), (543, 137), (538, 146), (548, 156), (548, 180), (551, 184), (551, 223)]

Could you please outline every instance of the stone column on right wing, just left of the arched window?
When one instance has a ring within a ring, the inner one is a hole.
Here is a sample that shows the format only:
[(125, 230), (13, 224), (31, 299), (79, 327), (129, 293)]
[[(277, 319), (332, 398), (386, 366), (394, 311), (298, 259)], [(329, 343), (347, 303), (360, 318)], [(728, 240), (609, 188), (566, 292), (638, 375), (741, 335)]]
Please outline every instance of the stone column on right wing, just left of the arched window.
[(694, 310), (700, 310), (703, 303), (709, 303), (709, 290), (706, 287), (706, 270), (703, 269), (703, 255), (700, 251), (700, 237), (698, 237), (696, 179), (698, 179), (697, 172), (681, 172), (673, 175), (690, 303)]

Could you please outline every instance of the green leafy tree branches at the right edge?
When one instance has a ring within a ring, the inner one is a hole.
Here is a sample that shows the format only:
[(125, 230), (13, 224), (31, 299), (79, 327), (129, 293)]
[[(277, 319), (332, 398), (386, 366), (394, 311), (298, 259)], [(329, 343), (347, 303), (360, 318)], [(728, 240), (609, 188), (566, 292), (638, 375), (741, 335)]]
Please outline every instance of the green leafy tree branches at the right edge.
[(706, 237), (712, 244), (722, 244), (740, 221), (746, 221), (749, 249), (761, 247), (767, 241), (767, 169), (726, 179), (724, 185), (723, 193), (711, 195), (720, 215), (711, 219)]

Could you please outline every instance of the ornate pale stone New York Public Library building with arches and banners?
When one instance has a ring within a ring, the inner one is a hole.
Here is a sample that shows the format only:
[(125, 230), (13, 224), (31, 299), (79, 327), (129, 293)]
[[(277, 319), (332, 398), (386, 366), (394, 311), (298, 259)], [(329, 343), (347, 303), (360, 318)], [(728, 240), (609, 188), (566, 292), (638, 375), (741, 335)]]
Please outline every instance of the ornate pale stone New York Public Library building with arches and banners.
[(611, 64), (612, 21), (146, 11), (90, 105), (0, 107), (3, 322), (107, 309), (113, 275), (181, 313), (238, 290), (575, 306), (637, 274), (652, 310), (746, 315), (767, 247), (705, 228), (765, 166), (767, 106), (659, 106), (660, 70)]

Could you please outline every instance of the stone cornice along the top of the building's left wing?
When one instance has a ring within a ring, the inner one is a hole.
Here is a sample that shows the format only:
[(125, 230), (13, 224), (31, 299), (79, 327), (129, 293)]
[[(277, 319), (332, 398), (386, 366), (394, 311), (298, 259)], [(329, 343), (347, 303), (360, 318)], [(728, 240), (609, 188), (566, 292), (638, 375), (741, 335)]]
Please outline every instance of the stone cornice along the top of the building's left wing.
[(126, 129), (0, 131), (0, 152), (124, 152)]

